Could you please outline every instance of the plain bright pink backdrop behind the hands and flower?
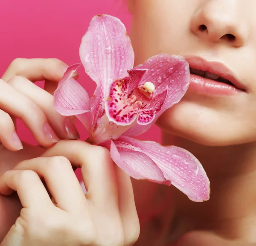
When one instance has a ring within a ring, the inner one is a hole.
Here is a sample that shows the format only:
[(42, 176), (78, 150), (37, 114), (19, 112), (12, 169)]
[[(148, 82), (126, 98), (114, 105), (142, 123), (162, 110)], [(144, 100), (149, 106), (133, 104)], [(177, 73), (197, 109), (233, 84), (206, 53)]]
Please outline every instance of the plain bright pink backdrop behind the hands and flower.
[[(123, 0), (0, 0), (0, 76), (17, 57), (54, 57), (69, 65), (80, 62), (81, 37), (96, 14), (116, 16), (129, 29), (131, 16)], [(78, 72), (79, 83), (93, 95), (94, 82), (83, 68)], [(76, 124), (81, 139), (85, 139), (87, 133), (80, 122)], [(21, 122), (18, 133), (22, 140), (35, 144)], [(140, 139), (159, 142), (160, 130), (154, 126)]]

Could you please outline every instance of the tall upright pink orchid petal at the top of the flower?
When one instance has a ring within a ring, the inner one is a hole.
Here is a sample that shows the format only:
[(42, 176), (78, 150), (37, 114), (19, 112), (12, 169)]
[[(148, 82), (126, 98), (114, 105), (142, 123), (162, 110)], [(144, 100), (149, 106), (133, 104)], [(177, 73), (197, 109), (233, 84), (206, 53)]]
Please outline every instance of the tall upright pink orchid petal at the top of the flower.
[(103, 101), (110, 85), (117, 78), (125, 78), (134, 64), (134, 52), (124, 24), (116, 17), (93, 17), (82, 38), (79, 49), (81, 62), (87, 74), (96, 82), (91, 107), (94, 125), (104, 113)]

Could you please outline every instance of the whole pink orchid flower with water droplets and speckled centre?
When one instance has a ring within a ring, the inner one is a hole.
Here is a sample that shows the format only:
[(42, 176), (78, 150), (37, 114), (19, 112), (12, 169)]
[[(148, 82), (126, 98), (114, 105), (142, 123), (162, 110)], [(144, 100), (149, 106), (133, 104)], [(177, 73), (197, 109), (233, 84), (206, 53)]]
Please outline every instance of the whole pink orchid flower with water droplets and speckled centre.
[(187, 150), (140, 141), (164, 110), (176, 104), (189, 86), (189, 65), (177, 55), (159, 54), (135, 68), (125, 26), (116, 17), (95, 16), (79, 50), (85, 71), (96, 84), (94, 96), (72, 76), (69, 67), (54, 94), (55, 109), (76, 115), (90, 142), (108, 148), (113, 161), (135, 179), (174, 185), (190, 200), (209, 199), (209, 179)]

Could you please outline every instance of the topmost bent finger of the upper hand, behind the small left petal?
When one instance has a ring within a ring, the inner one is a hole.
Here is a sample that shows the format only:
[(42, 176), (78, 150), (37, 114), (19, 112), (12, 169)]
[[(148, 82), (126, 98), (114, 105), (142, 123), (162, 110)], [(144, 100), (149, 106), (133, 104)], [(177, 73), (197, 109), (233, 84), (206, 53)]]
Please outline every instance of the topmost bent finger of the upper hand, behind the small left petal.
[(67, 68), (67, 64), (55, 58), (17, 58), (12, 61), (2, 79), (7, 82), (15, 76), (23, 76), (32, 82), (47, 79), (57, 84)]

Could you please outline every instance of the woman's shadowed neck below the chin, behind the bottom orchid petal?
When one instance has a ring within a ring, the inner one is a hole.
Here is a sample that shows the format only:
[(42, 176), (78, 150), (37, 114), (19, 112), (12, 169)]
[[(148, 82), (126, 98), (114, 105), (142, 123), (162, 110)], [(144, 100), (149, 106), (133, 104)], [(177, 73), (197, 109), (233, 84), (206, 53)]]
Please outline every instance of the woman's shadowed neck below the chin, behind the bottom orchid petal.
[[(164, 145), (189, 150), (204, 166), (211, 182), (210, 200), (194, 203), (177, 189), (173, 225), (180, 233), (210, 230), (229, 238), (256, 241), (256, 143), (212, 147), (163, 134)], [(183, 232), (182, 232), (183, 231)]]

